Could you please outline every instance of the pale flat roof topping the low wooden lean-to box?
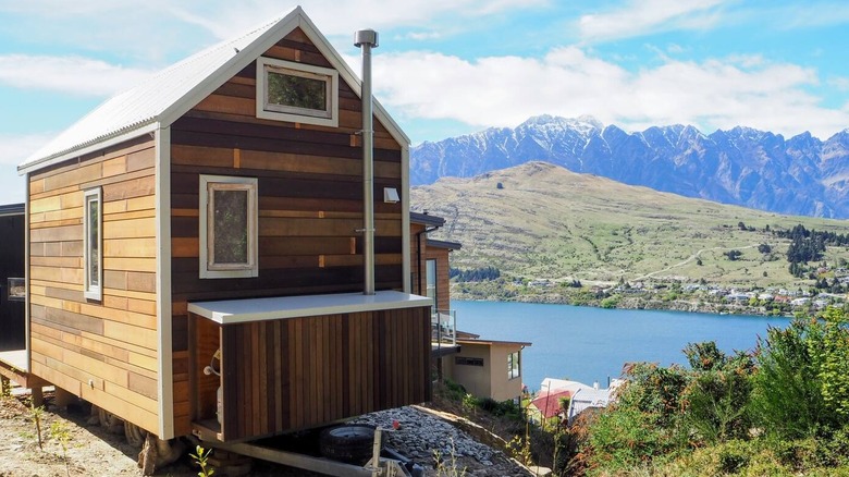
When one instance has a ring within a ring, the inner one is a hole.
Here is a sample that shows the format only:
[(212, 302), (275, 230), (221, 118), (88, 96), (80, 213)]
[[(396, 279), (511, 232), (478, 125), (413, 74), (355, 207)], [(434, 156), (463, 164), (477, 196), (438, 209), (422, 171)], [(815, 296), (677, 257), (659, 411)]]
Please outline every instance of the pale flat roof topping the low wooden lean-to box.
[(188, 310), (217, 323), (231, 325), (321, 315), (416, 308), (432, 306), (432, 304), (433, 301), (427, 296), (386, 290), (376, 292), (373, 295), (339, 293), (331, 295), (271, 296), (264, 298), (190, 302)]

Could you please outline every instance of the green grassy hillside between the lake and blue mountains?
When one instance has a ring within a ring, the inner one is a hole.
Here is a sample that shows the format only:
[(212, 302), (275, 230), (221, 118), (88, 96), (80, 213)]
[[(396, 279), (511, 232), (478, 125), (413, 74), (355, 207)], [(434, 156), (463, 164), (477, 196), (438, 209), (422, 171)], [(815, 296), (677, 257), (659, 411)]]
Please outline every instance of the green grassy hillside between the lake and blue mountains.
[[(743, 286), (812, 283), (788, 272), (789, 241), (767, 231), (803, 224), (849, 233), (845, 221), (726, 206), (576, 174), (543, 162), (415, 187), (413, 209), (445, 218), (434, 236), (459, 242), (452, 266), (494, 266), (527, 279), (588, 282), (679, 279)], [(747, 229), (740, 230), (742, 222)], [(758, 250), (768, 244), (772, 254)], [(724, 253), (738, 249), (738, 260)], [(700, 259), (700, 260), (698, 260)], [(829, 246), (829, 265), (849, 250)], [(701, 261), (701, 265), (699, 265)]]

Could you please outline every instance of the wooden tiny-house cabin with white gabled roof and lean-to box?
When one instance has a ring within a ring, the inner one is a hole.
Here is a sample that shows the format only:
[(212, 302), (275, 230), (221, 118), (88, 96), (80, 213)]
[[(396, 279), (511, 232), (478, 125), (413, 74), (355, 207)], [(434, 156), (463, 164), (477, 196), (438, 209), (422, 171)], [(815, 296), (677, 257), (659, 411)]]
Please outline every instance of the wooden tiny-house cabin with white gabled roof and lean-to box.
[(160, 439), (251, 440), (429, 400), (409, 139), (377, 102), (364, 293), (361, 87), (297, 8), (22, 163), (27, 371)]

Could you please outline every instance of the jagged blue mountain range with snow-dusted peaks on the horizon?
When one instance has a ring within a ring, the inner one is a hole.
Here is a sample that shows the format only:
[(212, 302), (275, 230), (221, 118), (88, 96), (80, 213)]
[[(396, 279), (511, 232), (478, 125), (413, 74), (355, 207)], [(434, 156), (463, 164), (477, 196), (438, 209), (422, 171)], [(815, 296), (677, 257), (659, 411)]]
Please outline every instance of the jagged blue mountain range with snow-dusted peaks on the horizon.
[(737, 126), (703, 134), (688, 125), (628, 133), (590, 117), (534, 117), (515, 129), (426, 142), (413, 148), (414, 185), (545, 161), (686, 197), (786, 215), (849, 218), (849, 129), (826, 140)]

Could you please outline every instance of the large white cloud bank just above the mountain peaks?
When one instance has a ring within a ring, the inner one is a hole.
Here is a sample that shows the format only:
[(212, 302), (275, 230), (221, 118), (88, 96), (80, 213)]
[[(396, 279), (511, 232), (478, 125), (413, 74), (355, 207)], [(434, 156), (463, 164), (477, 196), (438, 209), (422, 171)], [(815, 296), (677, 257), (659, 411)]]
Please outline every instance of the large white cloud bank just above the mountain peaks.
[(377, 96), (403, 117), (481, 127), (515, 126), (543, 113), (591, 114), (630, 130), (681, 123), (710, 133), (747, 125), (825, 138), (849, 124), (849, 110), (824, 108), (807, 91), (820, 82), (814, 71), (756, 57), (667, 58), (632, 73), (578, 47), (542, 59), (476, 61), (418, 51), (376, 57), (374, 78)]

